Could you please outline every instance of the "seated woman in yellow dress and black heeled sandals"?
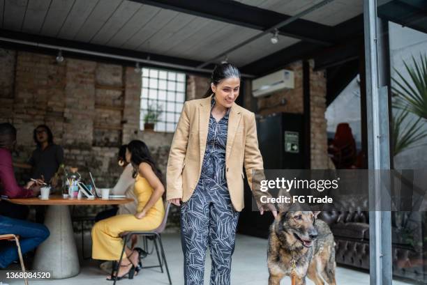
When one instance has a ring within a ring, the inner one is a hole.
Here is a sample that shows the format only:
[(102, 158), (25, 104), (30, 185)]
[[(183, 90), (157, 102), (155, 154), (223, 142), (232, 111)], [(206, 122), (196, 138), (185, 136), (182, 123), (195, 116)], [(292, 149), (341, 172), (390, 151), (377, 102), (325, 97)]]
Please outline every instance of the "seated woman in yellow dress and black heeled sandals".
[[(97, 222), (92, 229), (92, 258), (119, 261), (123, 240), (120, 234), (126, 231), (151, 231), (160, 226), (165, 215), (162, 195), (165, 187), (162, 174), (152, 159), (143, 141), (130, 141), (126, 148), (126, 161), (133, 165), (135, 197), (138, 205), (135, 215), (117, 215)], [(119, 266), (119, 272), (107, 279), (118, 280), (128, 275), (133, 278), (135, 269), (140, 269), (137, 250), (126, 247), (126, 255)]]

